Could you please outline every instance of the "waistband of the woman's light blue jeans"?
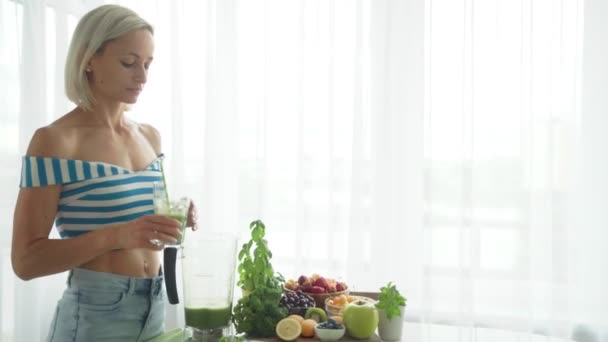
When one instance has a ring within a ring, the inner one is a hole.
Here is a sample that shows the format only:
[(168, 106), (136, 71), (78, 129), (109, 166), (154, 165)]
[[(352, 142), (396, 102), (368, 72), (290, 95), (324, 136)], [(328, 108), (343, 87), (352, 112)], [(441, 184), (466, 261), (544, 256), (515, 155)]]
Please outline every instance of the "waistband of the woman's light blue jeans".
[(68, 286), (98, 291), (124, 291), (130, 294), (158, 294), (162, 290), (163, 276), (136, 278), (114, 273), (72, 269)]

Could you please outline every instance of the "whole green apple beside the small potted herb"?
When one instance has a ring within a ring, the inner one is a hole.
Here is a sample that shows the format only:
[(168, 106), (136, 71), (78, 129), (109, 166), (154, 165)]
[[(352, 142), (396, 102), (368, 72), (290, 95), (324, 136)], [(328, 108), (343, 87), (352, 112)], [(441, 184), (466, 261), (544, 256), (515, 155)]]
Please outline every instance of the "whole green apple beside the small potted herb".
[(346, 305), (342, 320), (351, 337), (366, 339), (372, 336), (378, 327), (378, 310), (372, 302), (356, 300)]

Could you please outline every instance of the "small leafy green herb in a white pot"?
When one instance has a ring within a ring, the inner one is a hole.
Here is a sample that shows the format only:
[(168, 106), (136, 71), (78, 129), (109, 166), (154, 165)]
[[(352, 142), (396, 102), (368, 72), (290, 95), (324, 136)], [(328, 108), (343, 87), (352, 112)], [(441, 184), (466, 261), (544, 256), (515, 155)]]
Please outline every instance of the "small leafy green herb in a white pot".
[(397, 287), (392, 282), (380, 288), (376, 308), (380, 316), (378, 333), (383, 341), (401, 340), (405, 301), (405, 297), (399, 293), (399, 290), (397, 290)]

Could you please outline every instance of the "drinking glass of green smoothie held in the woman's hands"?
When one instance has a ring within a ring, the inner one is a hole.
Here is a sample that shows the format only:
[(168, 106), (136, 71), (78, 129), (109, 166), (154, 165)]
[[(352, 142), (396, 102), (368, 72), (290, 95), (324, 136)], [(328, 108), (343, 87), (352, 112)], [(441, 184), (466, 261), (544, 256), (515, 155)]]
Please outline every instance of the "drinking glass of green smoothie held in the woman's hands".
[[(176, 243), (164, 243), (167, 246), (179, 246), (184, 241), (186, 233), (186, 222), (188, 221), (188, 209), (190, 207), (190, 199), (187, 197), (169, 198), (166, 193), (166, 187), (163, 182), (154, 182), (153, 190), (154, 213), (157, 215), (169, 216), (178, 220), (182, 235)], [(161, 241), (153, 241), (155, 244), (163, 244)]]

